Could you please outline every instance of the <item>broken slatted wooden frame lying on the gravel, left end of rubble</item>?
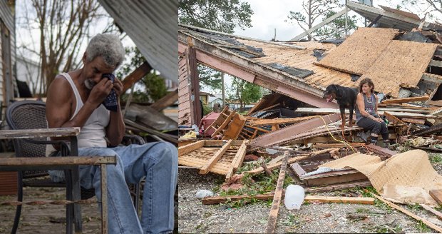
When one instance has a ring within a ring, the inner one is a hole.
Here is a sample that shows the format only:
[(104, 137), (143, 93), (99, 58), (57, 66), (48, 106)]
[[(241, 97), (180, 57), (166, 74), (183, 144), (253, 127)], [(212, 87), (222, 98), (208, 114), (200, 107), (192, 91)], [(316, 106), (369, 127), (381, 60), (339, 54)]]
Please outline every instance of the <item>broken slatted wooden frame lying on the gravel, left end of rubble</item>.
[(242, 165), (248, 141), (197, 141), (178, 148), (178, 164), (200, 168), (201, 174), (208, 172), (226, 175), (230, 180)]

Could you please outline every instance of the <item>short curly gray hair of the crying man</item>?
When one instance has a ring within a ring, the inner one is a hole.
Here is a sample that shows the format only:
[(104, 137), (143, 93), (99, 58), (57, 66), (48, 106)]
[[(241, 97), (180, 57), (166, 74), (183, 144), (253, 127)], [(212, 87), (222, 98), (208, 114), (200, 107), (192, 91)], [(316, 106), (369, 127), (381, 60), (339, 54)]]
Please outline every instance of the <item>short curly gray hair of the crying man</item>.
[(125, 50), (118, 36), (98, 34), (89, 41), (86, 48), (86, 60), (93, 61), (101, 56), (107, 66), (118, 68), (124, 60)]

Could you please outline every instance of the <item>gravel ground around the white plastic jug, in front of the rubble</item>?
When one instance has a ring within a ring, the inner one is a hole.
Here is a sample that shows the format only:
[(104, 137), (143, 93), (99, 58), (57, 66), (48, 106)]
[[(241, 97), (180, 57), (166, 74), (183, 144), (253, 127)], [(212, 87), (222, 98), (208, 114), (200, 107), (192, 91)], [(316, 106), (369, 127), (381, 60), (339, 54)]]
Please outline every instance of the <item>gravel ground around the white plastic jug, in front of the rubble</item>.
[[(433, 167), (441, 174), (442, 157), (431, 153)], [(274, 171), (277, 175), (277, 171)], [(286, 175), (287, 177), (289, 175)], [(200, 175), (196, 169), (180, 168), (179, 233), (264, 233), (272, 200), (249, 204), (226, 203), (202, 205), (195, 198), (199, 189), (212, 190), (220, 195), (222, 175)], [(293, 181), (292, 181), (293, 182)], [(285, 185), (285, 184), (284, 184)], [(285, 185), (287, 186), (287, 185)], [(284, 187), (285, 187), (284, 186)], [(366, 192), (366, 190), (365, 190)], [(309, 195), (366, 195), (364, 189), (354, 188)], [(419, 205), (402, 205), (436, 225), (442, 222)], [(375, 205), (304, 203), (300, 210), (287, 210), (281, 203), (277, 218), (277, 233), (432, 233), (425, 224), (389, 208), (376, 200)]]

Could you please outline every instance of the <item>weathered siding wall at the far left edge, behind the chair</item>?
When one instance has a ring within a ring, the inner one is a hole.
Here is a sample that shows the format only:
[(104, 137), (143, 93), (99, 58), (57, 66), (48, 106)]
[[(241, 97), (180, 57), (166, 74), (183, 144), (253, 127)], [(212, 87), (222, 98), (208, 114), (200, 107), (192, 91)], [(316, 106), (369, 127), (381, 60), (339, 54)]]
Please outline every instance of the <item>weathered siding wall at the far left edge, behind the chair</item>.
[[(0, 41), (0, 96), (1, 101), (6, 103), (3, 103), (3, 105), (7, 105), (11, 99), (14, 98), (14, 85), (15, 85), (15, 79), (14, 79), (14, 64), (16, 62), (16, 36), (15, 36), (15, 16), (12, 14), (13, 9), (9, 6), (8, 0), (0, 0), (0, 20), (3, 21), (3, 23), (6, 26), (6, 29), (9, 30), (9, 44), (11, 46), (11, 73), (10, 76), (7, 77), (8, 83), (10, 84), (9, 88), (6, 88), (5, 77), (3, 73), (3, 61), (1, 61), (1, 51), (2, 44), (4, 44), (4, 41)], [(0, 36), (1, 38), (1, 36)], [(1, 40), (1, 39), (0, 39)], [(7, 91), (7, 92), (6, 92)]]

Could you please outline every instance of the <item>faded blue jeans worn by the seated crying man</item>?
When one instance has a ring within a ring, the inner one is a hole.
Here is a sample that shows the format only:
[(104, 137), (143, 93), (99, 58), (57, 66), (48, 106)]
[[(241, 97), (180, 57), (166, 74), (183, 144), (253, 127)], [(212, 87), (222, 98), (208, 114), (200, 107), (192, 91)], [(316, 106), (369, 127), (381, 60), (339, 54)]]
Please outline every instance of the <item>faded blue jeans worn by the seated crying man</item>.
[[(173, 195), (178, 178), (178, 150), (170, 143), (79, 148), (79, 156), (117, 156), (117, 165), (107, 167), (109, 233), (173, 232)], [(51, 174), (54, 177), (54, 174)], [(127, 183), (145, 177), (141, 222), (133, 207)], [(81, 186), (95, 188), (101, 200), (98, 166), (80, 167)]]

